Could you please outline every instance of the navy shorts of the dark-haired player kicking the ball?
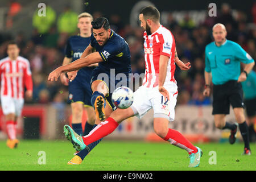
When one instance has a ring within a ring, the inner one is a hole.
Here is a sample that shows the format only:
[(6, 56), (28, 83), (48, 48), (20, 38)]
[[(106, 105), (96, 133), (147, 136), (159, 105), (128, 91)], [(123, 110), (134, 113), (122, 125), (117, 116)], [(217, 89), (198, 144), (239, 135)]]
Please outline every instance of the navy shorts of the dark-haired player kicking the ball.
[[(93, 81), (101, 80), (104, 81), (106, 86), (108, 87), (109, 94), (105, 96), (106, 101), (108, 101), (110, 107), (114, 110), (115, 106), (112, 103), (112, 93), (114, 92), (115, 88), (118, 88), (119, 86), (129, 86), (129, 73), (122, 73), (125, 74), (126, 79), (122, 80), (115, 80), (116, 75), (110, 74), (109, 72), (106, 72), (105, 70), (101, 68), (95, 68), (92, 72), (92, 78), (90, 80), (90, 84), (92, 84)], [(124, 76), (124, 75), (123, 75)]]

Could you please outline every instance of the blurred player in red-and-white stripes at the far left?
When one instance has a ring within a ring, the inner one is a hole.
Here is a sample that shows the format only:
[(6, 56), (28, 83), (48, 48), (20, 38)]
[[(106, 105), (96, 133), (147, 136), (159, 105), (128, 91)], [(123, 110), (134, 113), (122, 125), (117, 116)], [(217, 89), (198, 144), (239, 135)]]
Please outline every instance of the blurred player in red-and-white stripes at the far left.
[[(32, 98), (33, 83), (30, 63), (19, 56), (18, 44), (10, 42), (7, 45), (8, 57), (0, 60), (1, 75), (1, 105), (6, 119), (7, 146), (16, 148), (19, 140), (16, 139), (17, 118), (22, 113), (24, 95)], [(24, 87), (26, 92), (24, 93)]]

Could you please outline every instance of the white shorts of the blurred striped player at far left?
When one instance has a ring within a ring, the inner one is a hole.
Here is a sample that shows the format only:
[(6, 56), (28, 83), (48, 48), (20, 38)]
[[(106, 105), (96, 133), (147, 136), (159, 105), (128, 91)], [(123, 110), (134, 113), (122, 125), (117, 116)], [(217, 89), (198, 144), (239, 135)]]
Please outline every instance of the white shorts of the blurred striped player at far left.
[(2, 110), (5, 115), (14, 113), (16, 116), (19, 116), (22, 113), (23, 104), (23, 98), (16, 99), (8, 96), (1, 96)]

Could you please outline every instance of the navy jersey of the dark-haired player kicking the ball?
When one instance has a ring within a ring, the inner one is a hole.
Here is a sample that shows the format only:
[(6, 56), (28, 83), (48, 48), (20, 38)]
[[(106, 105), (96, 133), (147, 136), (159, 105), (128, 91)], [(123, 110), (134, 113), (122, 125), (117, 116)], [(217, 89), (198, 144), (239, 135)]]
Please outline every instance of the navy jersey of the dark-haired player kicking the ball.
[(98, 64), (98, 68), (110, 72), (110, 69), (115, 69), (117, 73), (131, 72), (131, 54), (128, 44), (125, 39), (111, 30), (109, 40), (100, 46), (93, 34), (91, 36), (90, 46), (98, 51), (104, 60)]

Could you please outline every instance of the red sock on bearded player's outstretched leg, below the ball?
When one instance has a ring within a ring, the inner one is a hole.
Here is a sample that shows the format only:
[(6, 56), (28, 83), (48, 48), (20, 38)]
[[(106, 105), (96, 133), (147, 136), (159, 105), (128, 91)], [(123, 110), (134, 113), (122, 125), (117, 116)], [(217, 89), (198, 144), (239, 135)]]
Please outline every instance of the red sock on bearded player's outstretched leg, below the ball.
[(118, 122), (109, 117), (106, 119), (106, 121), (101, 122), (94, 127), (94, 129), (90, 131), (88, 135), (82, 137), (82, 140), (84, 140), (84, 144), (88, 146), (88, 144), (96, 142), (98, 139), (106, 137), (106, 135), (112, 133), (118, 127), (118, 125)]

